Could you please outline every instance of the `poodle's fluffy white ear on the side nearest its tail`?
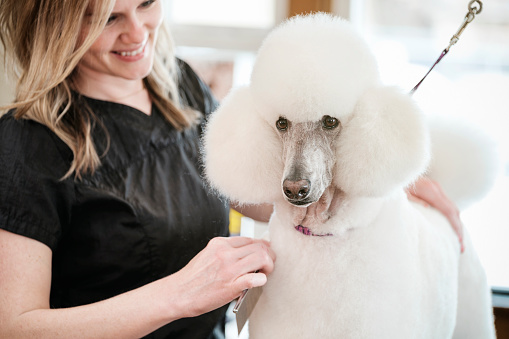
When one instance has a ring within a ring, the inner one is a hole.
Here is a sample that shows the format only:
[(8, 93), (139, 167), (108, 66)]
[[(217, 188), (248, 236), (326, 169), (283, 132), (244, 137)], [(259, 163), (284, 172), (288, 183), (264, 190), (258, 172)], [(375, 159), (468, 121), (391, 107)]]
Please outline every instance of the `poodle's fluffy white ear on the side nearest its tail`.
[(424, 117), (393, 87), (365, 92), (338, 138), (334, 184), (354, 196), (383, 196), (414, 181), (429, 161)]

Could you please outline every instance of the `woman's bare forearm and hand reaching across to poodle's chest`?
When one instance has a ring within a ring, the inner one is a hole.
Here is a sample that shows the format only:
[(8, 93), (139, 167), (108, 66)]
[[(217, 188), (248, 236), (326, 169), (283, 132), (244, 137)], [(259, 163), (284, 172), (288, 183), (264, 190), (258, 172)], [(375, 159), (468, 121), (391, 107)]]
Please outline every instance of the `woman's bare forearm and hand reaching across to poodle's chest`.
[[(216, 309), (261, 286), (273, 269), (268, 243), (215, 238), (181, 271), (90, 305), (50, 309), (52, 252), (0, 230), (0, 337), (139, 338)], [(251, 273), (259, 270), (260, 273)]]

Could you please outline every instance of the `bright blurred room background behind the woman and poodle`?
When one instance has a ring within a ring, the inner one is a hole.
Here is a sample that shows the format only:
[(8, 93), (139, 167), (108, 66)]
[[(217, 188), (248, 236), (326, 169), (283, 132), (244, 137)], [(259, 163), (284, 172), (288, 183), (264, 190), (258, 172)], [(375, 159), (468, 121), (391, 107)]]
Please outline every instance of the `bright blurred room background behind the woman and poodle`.
[[(350, 20), (373, 46), (383, 81), (411, 90), (448, 46), (469, 8), (468, 0), (163, 1), (177, 55), (218, 99), (249, 81), (268, 31), (287, 17), (313, 11)], [(0, 79), (0, 104), (5, 104), (12, 100), (13, 85), (5, 76)], [(509, 317), (509, 1), (483, 1), (482, 12), (414, 97), (426, 112), (459, 117), (494, 140), (500, 159), (495, 185), (462, 213), (462, 220), (497, 291), (495, 306)]]

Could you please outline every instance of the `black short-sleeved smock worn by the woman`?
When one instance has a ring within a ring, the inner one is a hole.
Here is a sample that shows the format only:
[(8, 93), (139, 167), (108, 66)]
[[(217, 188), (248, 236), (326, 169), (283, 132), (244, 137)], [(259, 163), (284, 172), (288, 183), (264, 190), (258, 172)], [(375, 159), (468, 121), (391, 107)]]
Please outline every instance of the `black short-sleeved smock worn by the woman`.
[[(216, 101), (208, 87), (179, 65), (183, 102), (210, 114)], [(82, 180), (60, 180), (73, 156), (48, 128), (15, 120), (12, 112), (0, 119), (0, 227), (51, 248), (52, 308), (93, 303), (165, 277), (211, 238), (228, 235), (228, 206), (202, 180), (201, 126), (179, 132), (155, 105), (149, 116), (77, 99), (103, 122), (111, 142), (99, 169)], [(100, 127), (93, 137), (103, 150)], [(220, 337), (224, 313), (177, 320), (148, 338)]]

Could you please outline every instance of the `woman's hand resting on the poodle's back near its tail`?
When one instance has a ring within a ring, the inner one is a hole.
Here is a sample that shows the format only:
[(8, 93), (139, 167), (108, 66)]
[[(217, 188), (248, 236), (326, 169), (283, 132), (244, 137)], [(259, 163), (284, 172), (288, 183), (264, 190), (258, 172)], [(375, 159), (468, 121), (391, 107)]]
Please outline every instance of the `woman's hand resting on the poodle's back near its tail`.
[(445, 195), (438, 182), (426, 177), (421, 177), (411, 187), (406, 189), (408, 199), (424, 206), (432, 206), (439, 210), (451, 224), (454, 232), (458, 235), (461, 252), (465, 250), (463, 245), (463, 223), (460, 212), (456, 205)]

